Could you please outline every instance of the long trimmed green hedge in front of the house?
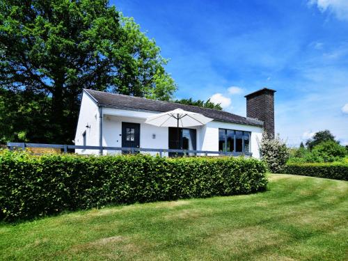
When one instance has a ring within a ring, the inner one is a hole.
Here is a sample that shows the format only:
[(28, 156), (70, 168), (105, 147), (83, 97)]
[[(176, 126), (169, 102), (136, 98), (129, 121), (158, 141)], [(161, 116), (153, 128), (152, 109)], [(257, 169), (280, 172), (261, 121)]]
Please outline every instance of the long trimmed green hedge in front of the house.
[(107, 204), (262, 191), (266, 166), (231, 157), (33, 156), (0, 152), (0, 219), (31, 219)]

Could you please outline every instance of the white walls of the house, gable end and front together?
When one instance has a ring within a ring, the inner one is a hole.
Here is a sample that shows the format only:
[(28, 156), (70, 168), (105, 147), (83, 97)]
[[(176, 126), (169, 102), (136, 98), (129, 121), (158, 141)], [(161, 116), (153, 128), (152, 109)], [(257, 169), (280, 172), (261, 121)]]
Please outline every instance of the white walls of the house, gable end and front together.
[[(168, 127), (155, 127), (145, 124), (145, 118), (157, 114), (156, 111), (131, 111), (125, 109), (106, 108), (103, 112), (102, 145), (108, 147), (122, 147), (122, 122), (134, 122), (140, 124), (140, 148), (168, 149)], [(82, 145), (82, 133), (86, 130), (87, 145), (99, 145), (99, 111), (97, 104), (84, 93), (81, 101), (81, 112), (77, 126), (75, 144)], [(86, 125), (90, 128), (86, 128)], [(251, 132), (251, 152), (253, 157), (260, 158), (258, 141), (262, 137), (262, 128), (250, 125), (239, 125), (228, 122), (208, 122), (207, 125), (191, 127), (197, 132), (197, 150), (219, 151), (219, 128), (234, 129)], [(155, 139), (152, 139), (155, 134)], [(77, 153), (98, 154), (98, 150), (77, 150)], [(104, 154), (119, 153), (106, 151)], [(157, 152), (152, 152), (152, 155)], [(166, 155), (166, 154), (164, 154)]]

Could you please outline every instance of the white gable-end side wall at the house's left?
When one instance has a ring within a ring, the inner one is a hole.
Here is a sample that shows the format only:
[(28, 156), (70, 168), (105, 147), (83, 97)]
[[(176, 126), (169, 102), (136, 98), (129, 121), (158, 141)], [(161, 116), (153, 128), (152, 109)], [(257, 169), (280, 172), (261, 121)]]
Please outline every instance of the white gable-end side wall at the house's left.
[[(86, 131), (86, 145), (99, 146), (99, 111), (95, 100), (86, 92), (82, 93), (79, 120), (75, 134), (75, 145), (84, 145), (82, 134)], [(86, 125), (90, 126), (89, 128)], [(79, 154), (99, 154), (99, 150), (75, 150)]]

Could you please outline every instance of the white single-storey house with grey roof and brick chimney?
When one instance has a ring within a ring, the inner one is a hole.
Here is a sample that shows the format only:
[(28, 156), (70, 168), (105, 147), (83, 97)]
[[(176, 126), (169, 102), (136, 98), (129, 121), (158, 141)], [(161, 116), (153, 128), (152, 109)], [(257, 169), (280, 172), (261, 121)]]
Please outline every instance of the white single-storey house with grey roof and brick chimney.
[[(180, 129), (179, 149), (237, 152), (259, 158), (258, 141), (261, 139), (262, 128), (269, 135), (274, 135), (274, 92), (275, 90), (263, 88), (246, 95), (247, 117), (242, 117), (198, 106), (84, 89), (75, 145), (177, 149), (176, 127), (155, 127), (146, 124), (145, 120), (157, 113), (183, 109), (201, 113), (214, 120), (203, 126)], [(100, 153), (98, 150), (76, 152)], [(102, 150), (102, 153), (119, 152)]]

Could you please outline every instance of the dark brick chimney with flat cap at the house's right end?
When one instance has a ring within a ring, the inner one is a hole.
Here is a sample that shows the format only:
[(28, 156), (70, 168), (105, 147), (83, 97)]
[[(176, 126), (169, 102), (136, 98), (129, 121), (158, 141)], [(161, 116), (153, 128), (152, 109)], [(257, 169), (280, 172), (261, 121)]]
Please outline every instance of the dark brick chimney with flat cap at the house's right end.
[(276, 90), (262, 88), (244, 96), (246, 117), (262, 120), (270, 138), (274, 138), (274, 93)]

